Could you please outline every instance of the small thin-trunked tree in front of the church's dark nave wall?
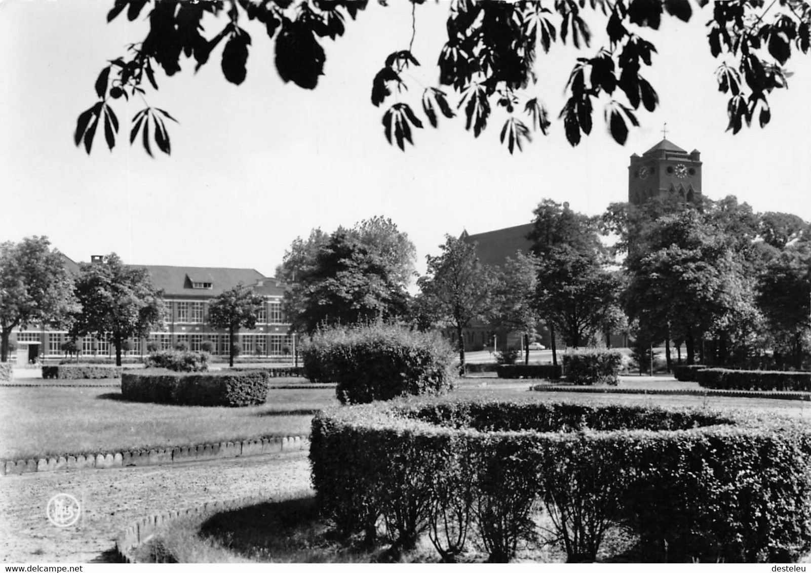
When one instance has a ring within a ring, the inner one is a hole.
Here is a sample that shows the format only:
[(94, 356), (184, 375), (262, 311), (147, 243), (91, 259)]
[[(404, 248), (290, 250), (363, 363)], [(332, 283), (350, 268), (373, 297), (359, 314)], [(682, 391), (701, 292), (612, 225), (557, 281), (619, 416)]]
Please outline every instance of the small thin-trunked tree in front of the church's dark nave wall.
[(533, 254), (524, 254), (520, 250), (514, 259), (507, 257), (504, 271), (498, 273), (496, 288), (492, 293), (491, 323), (506, 331), (521, 332), (525, 364), (530, 362), (530, 335), (538, 322), (534, 306), (538, 265)]

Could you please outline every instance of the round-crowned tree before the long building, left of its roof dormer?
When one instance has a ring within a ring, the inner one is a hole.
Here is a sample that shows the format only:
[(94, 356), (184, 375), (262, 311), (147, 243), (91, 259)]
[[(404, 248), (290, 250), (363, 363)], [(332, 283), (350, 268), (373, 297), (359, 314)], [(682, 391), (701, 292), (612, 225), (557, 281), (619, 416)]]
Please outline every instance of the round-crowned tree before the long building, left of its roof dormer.
[(121, 366), (125, 340), (144, 338), (163, 323), (163, 293), (144, 267), (126, 265), (118, 254), (81, 263), (75, 293), (82, 310), (75, 314), (71, 337), (109, 338), (117, 366)]

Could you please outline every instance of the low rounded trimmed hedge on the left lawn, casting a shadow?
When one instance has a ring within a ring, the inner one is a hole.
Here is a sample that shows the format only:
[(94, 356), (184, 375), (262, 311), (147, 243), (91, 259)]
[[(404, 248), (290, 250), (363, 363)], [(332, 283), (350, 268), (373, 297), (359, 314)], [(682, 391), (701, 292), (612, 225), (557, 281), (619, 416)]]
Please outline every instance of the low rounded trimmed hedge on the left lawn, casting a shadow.
[(149, 370), (121, 377), (124, 400), (183, 406), (252, 406), (268, 398), (264, 370), (181, 373)]

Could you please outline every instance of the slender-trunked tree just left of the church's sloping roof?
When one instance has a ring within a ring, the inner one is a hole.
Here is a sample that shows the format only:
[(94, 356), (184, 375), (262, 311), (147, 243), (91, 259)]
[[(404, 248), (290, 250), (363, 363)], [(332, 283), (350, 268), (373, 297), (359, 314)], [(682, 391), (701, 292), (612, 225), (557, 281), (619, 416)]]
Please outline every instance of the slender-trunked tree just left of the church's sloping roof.
[(474, 320), (484, 320), (491, 309), (496, 276), (476, 257), (476, 246), (445, 235), (442, 253), (426, 256), (427, 271), (419, 277), (420, 303), (430, 309), (436, 323), (456, 330), (460, 371), (465, 368), (465, 337), (462, 330)]

